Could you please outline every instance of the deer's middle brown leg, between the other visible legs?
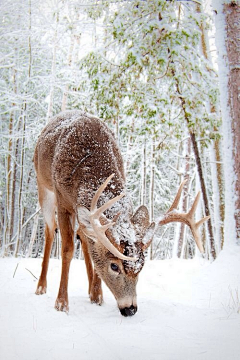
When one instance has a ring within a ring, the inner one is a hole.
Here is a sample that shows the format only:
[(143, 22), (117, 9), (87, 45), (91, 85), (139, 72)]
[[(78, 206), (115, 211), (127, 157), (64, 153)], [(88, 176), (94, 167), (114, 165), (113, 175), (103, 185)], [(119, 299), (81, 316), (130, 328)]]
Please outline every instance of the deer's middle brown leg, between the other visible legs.
[(55, 309), (59, 311), (69, 311), (68, 306), (68, 275), (70, 263), (74, 253), (73, 229), (70, 221), (70, 214), (62, 209), (58, 209), (59, 228), (62, 237), (62, 274), (58, 297), (55, 302)]

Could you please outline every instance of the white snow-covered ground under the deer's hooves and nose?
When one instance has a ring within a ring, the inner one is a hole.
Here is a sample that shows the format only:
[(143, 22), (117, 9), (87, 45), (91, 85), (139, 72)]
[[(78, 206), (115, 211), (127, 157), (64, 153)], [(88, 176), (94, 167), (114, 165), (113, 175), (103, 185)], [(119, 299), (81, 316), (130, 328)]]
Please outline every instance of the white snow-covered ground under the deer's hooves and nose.
[[(14, 271), (18, 265), (15, 276)], [(120, 315), (104, 286), (91, 304), (83, 261), (70, 269), (70, 312), (57, 312), (61, 262), (51, 260), (48, 292), (34, 294), (41, 259), (0, 259), (2, 360), (237, 360), (240, 358), (240, 248), (210, 264), (148, 261), (138, 283), (138, 312)]]

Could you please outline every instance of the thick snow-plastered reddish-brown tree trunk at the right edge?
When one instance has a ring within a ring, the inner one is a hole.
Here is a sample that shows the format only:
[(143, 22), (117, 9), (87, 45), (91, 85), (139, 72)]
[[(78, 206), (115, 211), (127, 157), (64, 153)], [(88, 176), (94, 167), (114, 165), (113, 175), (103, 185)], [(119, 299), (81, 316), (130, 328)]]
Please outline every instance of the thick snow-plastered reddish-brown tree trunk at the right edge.
[(238, 89), (239, 16), (237, 1), (212, 1), (215, 10), (216, 44), (223, 119), (225, 168), (225, 234), (240, 238), (240, 110)]

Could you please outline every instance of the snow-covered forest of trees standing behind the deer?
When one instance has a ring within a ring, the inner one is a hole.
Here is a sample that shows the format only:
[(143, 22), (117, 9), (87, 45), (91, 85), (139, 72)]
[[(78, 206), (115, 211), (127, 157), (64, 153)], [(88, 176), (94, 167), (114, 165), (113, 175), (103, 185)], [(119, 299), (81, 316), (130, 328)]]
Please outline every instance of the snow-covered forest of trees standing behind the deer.
[[(201, 190), (197, 218), (211, 216), (201, 229), (205, 258), (239, 241), (239, 5), (224, 2), (228, 26), (218, 7), (217, 0), (1, 1), (1, 256), (42, 256), (33, 154), (41, 130), (66, 109), (113, 130), (134, 207), (160, 217), (186, 179), (179, 210)], [(52, 257), (60, 253), (56, 234)], [(170, 224), (157, 231), (149, 258), (197, 254), (191, 232)], [(74, 256), (82, 258), (77, 238)]]

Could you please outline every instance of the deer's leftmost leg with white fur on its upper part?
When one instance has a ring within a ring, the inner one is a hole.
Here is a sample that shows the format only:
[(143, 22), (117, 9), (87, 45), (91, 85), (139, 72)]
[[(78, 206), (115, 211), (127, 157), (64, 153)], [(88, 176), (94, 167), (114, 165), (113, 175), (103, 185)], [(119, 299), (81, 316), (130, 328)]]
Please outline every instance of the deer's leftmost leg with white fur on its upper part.
[(44, 256), (42, 262), (42, 271), (38, 281), (36, 294), (42, 295), (47, 291), (47, 271), (49, 258), (51, 255), (52, 244), (54, 239), (54, 232), (57, 228), (55, 220), (55, 210), (56, 210), (56, 201), (55, 195), (53, 192), (41, 188), (38, 186), (39, 192), (39, 202), (43, 211), (43, 216), (45, 220), (45, 247), (44, 247)]

